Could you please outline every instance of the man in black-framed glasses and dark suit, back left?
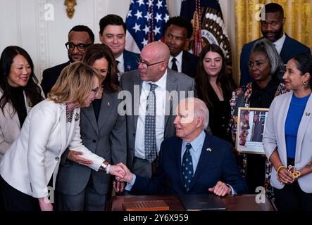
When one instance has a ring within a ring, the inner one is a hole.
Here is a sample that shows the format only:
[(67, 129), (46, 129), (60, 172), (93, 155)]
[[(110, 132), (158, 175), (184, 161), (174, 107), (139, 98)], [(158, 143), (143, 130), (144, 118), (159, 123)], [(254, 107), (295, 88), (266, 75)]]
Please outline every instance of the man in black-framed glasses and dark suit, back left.
[(52, 86), (61, 74), (63, 68), (73, 62), (82, 60), (82, 56), (87, 49), (94, 43), (94, 34), (89, 27), (84, 25), (77, 25), (68, 32), (68, 42), (65, 44), (68, 49), (69, 61), (52, 68), (44, 70), (42, 73), (42, 90), (46, 96), (51, 91)]

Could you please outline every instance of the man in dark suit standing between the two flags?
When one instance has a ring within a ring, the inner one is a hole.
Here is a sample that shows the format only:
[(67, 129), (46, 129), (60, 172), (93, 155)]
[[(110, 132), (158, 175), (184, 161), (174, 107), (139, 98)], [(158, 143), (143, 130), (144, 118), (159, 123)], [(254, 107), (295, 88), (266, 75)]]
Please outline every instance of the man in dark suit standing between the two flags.
[(165, 25), (165, 44), (170, 49), (169, 68), (183, 72), (189, 77), (195, 77), (198, 57), (184, 51), (190, 37), (192, 37), (192, 24), (182, 16), (175, 16)]

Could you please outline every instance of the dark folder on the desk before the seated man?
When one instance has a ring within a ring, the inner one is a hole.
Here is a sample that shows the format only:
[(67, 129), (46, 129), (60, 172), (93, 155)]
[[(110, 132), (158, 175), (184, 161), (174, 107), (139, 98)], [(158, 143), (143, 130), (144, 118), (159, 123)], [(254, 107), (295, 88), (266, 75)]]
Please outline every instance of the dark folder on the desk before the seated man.
[(182, 195), (180, 200), (187, 211), (226, 210), (220, 197), (213, 194)]

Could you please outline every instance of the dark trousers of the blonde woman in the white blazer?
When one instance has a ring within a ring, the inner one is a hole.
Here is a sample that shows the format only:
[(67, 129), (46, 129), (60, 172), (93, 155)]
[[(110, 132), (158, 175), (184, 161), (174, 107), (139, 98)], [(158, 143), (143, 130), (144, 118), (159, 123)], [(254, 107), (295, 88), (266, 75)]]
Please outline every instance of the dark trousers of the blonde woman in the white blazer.
[(0, 176), (0, 186), (6, 211), (40, 211), (38, 198), (22, 193)]

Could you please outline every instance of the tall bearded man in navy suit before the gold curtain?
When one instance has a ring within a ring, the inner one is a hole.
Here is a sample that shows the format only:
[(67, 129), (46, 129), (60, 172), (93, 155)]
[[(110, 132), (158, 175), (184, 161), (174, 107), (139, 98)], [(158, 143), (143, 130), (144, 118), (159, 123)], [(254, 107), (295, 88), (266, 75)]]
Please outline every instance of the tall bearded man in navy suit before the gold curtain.
[[(287, 64), (288, 60), (298, 53), (310, 53), (310, 49), (299, 41), (289, 37), (283, 30), (286, 18), (284, 17), (284, 10), (282, 6), (276, 3), (267, 4), (265, 10), (265, 20), (261, 20), (261, 32), (263, 37), (273, 42), (280, 58)], [(263, 12), (262, 12), (263, 13)], [(240, 86), (253, 82), (254, 78), (249, 74), (249, 57), (251, 48), (254, 43), (258, 41), (251, 41), (244, 44), (240, 56)]]

